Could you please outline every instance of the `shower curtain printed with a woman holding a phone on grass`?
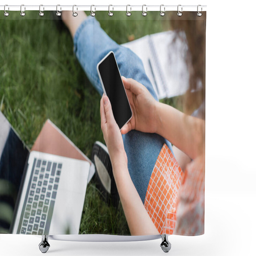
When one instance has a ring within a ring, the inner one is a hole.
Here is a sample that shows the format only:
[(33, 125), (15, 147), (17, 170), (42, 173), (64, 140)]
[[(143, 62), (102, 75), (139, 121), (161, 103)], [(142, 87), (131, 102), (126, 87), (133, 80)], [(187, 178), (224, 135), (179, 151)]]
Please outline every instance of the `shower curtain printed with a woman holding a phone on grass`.
[[(63, 22), (64, 12), (0, 12), (0, 232), (204, 234), (206, 12), (83, 13)], [(134, 118), (122, 137), (102, 127), (97, 64), (110, 51)], [(117, 137), (123, 169), (113, 163)], [(53, 160), (47, 170), (42, 158), (28, 174), (33, 152), (63, 150), (87, 169)], [(80, 196), (63, 199), (78, 187)]]

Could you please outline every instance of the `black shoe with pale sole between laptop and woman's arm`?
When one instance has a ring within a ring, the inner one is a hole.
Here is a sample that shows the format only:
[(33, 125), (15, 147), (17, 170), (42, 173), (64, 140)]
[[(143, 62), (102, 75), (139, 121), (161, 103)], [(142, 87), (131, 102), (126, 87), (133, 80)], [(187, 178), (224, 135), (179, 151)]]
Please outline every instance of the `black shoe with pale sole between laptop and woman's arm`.
[(96, 141), (92, 148), (92, 162), (95, 165), (96, 187), (100, 190), (104, 200), (114, 207), (118, 207), (119, 195), (113, 176), (108, 148), (100, 141)]

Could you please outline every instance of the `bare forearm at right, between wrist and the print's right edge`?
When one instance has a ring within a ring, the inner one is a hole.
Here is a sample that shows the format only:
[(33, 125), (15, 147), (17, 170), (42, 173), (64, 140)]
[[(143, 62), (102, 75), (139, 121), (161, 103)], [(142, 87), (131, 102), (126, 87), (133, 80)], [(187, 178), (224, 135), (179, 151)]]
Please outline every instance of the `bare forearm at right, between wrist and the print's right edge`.
[(157, 104), (156, 113), (158, 134), (192, 159), (202, 153), (205, 125), (203, 120), (185, 115), (163, 103)]

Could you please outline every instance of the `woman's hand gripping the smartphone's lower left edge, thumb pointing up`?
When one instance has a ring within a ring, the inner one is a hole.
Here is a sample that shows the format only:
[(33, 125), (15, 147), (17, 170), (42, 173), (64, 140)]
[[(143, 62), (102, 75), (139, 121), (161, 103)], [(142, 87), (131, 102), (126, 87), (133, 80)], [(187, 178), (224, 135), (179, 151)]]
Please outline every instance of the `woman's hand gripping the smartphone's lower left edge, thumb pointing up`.
[(101, 130), (108, 148), (113, 170), (115, 169), (114, 166), (120, 163), (127, 166), (127, 156), (124, 151), (122, 134), (113, 116), (110, 101), (105, 94), (103, 94), (100, 100), (100, 117)]

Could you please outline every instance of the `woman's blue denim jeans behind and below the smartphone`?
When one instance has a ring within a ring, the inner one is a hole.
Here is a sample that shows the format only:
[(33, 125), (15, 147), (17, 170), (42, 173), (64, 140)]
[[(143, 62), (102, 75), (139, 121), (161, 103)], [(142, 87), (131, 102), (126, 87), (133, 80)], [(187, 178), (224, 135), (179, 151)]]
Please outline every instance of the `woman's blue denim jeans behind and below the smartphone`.
[[(88, 16), (74, 36), (74, 52), (88, 79), (100, 95), (103, 94), (103, 90), (96, 67), (110, 51), (115, 53), (121, 75), (145, 85), (151, 95), (158, 100), (140, 58), (130, 49), (113, 41), (100, 28), (100, 23), (94, 17)], [(150, 176), (161, 148), (166, 143), (172, 151), (172, 145), (156, 133), (135, 130), (123, 135), (123, 141), (132, 182), (144, 203)]]

